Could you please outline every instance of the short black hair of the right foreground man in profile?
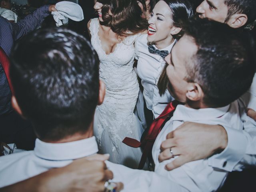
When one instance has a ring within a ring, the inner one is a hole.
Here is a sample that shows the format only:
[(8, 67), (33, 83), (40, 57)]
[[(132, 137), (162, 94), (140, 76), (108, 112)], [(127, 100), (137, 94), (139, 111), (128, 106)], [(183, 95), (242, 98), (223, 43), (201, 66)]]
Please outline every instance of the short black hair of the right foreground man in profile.
[(256, 70), (252, 36), (227, 24), (199, 18), (192, 19), (184, 29), (198, 46), (186, 65), (186, 80), (201, 86), (204, 103), (225, 106), (242, 96)]

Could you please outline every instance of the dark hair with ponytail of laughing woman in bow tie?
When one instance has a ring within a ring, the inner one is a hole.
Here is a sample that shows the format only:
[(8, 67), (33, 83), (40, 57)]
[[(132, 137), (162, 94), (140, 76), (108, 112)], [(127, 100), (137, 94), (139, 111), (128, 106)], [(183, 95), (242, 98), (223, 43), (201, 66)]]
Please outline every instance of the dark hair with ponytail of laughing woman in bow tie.
[[(188, 0), (163, 0), (168, 4), (171, 12), (172, 12), (172, 21), (173, 25), (179, 28), (182, 28), (182, 25), (193, 16), (193, 8)], [(184, 29), (182, 28), (180, 32), (176, 35), (173, 35), (173, 38), (179, 39), (183, 36)], [(166, 68), (168, 64), (166, 64), (162, 70), (160, 78), (157, 83), (157, 87), (159, 90), (159, 94), (162, 96), (166, 91), (168, 84), (168, 77), (166, 75)]]

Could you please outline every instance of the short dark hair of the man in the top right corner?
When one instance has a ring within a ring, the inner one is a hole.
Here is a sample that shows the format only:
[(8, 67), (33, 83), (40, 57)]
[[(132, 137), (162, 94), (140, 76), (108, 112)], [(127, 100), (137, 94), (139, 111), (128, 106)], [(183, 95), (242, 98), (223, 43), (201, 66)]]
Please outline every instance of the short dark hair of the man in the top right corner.
[(228, 7), (227, 22), (233, 14), (242, 13), (247, 15), (247, 23), (256, 20), (256, 1), (255, 0), (224, 0)]

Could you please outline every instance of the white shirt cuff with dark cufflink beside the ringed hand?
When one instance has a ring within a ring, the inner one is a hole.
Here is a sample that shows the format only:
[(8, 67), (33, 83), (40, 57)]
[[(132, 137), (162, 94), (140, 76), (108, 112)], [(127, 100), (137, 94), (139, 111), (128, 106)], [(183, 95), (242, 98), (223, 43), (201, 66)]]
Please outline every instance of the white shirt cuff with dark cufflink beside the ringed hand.
[(228, 145), (221, 153), (208, 158), (208, 165), (231, 172), (245, 154), (247, 139), (242, 130), (224, 128), (228, 135)]

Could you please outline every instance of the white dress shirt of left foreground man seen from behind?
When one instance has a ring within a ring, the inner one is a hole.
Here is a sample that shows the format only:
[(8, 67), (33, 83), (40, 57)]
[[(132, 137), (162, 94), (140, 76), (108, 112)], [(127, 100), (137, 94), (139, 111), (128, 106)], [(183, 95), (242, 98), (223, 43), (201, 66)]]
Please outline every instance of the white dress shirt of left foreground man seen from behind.
[[(0, 157), (0, 188), (36, 176), (50, 168), (70, 164), (74, 159), (96, 154), (95, 137), (66, 143), (46, 143), (36, 139), (34, 151)], [(123, 192), (178, 191), (180, 186), (158, 174), (134, 170), (106, 161), (113, 172), (113, 182), (123, 182)], [(65, 182), (65, 181), (63, 181)]]

